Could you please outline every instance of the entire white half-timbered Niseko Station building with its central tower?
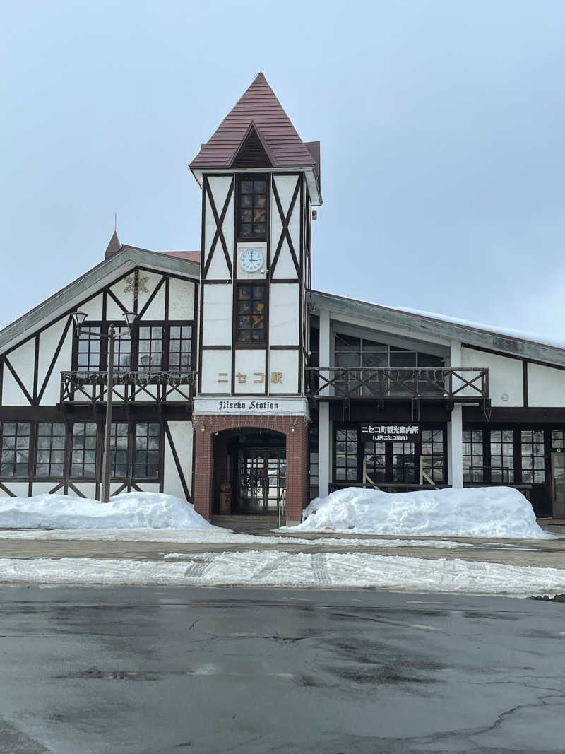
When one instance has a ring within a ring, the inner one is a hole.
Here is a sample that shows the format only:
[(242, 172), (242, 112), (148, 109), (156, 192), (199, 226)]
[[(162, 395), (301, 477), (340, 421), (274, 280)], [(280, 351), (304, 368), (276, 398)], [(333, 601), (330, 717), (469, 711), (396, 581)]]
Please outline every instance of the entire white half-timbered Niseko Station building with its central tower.
[(112, 494), (292, 523), (347, 486), (507, 485), (565, 518), (563, 348), (313, 290), (319, 143), (261, 73), (190, 169), (200, 250), (115, 233), (102, 262), (0, 332), (0, 494), (99, 497), (103, 336), (133, 311), (115, 353)]

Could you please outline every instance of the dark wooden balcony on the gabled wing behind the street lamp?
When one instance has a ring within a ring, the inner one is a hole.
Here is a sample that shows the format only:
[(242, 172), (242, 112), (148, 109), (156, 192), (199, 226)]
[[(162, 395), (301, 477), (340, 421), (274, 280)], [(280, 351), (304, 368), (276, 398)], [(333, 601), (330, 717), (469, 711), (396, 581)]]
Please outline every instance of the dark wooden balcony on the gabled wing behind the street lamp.
[[(112, 401), (190, 403), (196, 372), (114, 372)], [(61, 404), (105, 403), (108, 372), (61, 372)]]

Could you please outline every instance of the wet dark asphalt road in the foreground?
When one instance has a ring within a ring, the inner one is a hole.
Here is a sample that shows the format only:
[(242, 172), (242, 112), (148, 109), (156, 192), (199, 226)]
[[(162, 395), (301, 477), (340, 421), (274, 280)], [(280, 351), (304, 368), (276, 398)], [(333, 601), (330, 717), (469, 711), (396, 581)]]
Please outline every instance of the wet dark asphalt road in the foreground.
[(565, 604), (0, 587), (0, 752), (563, 752)]

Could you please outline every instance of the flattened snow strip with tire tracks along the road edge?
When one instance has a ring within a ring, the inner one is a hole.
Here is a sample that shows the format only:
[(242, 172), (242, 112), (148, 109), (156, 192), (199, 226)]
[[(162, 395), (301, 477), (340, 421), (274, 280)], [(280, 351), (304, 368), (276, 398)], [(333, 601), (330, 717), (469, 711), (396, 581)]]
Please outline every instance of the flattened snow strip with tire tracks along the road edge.
[(186, 562), (90, 558), (0, 559), (9, 584), (144, 584), (377, 588), (530, 596), (565, 592), (565, 569), (368, 553), (199, 553)]

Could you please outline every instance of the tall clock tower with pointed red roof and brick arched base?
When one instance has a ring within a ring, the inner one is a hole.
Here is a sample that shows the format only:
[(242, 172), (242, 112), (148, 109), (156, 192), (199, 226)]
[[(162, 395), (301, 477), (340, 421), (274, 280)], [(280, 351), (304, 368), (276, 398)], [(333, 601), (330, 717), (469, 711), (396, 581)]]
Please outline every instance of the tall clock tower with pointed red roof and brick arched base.
[[(255, 444), (261, 435), (272, 444), (269, 433), (286, 437), (282, 497), (287, 522), (300, 520), (307, 448), (300, 470), (290, 443), (307, 438), (306, 293), (312, 206), (322, 202), (319, 142), (301, 140), (259, 73), (190, 169), (202, 187), (195, 504), (208, 518), (217, 513), (217, 488), (224, 484), (231, 487), (231, 513), (246, 512), (242, 480), (218, 461), (214, 446), (221, 445), (218, 435), (248, 427)], [(241, 466), (237, 458), (233, 464)], [(206, 473), (213, 478), (206, 481)]]

